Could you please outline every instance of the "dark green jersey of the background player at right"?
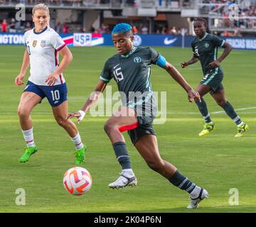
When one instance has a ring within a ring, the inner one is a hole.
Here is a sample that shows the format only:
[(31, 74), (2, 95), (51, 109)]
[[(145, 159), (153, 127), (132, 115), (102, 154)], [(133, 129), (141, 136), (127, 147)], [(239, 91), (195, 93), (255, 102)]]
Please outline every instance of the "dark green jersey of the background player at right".
[(208, 33), (206, 33), (206, 35), (201, 39), (198, 37), (193, 39), (191, 43), (193, 55), (199, 58), (204, 75), (212, 71), (215, 71), (216, 73), (223, 73), (220, 66), (213, 68), (209, 64), (210, 62), (217, 60), (218, 47), (223, 47), (224, 43), (225, 40)]

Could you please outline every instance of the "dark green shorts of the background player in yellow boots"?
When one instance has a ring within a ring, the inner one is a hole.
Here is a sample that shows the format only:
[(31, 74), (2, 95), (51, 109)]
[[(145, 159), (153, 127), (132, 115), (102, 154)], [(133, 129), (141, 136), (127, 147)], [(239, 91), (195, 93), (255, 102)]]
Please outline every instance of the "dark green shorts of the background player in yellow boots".
[(215, 70), (207, 73), (203, 79), (201, 80), (200, 84), (210, 86), (210, 94), (214, 94), (218, 90), (223, 90), (223, 73), (218, 70)]

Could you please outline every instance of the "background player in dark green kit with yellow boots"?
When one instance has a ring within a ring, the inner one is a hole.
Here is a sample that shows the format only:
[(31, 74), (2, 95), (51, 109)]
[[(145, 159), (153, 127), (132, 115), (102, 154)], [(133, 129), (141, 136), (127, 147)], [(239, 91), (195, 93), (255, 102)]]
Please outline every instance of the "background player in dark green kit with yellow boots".
[[(218, 38), (218, 36), (206, 33), (206, 28), (207, 22), (205, 19), (195, 19), (193, 29), (196, 33), (196, 38), (194, 38), (191, 43), (193, 57), (188, 62), (181, 63), (181, 67), (184, 68), (200, 60), (203, 69), (203, 79), (196, 88), (196, 91), (201, 96), (201, 102), (196, 101), (196, 104), (206, 124), (203, 126), (203, 131), (201, 131), (199, 135), (208, 135), (210, 131), (215, 129), (215, 123), (211, 121), (206, 102), (203, 99), (203, 96), (210, 92), (210, 95), (215, 99), (216, 103), (224, 109), (226, 114), (228, 114), (238, 126), (238, 133), (235, 137), (241, 137), (249, 129), (249, 126), (242, 122), (241, 118), (233, 109), (233, 106), (225, 98), (224, 87), (221, 83), (223, 80), (223, 70), (220, 67), (220, 62), (229, 55), (232, 46), (226, 43), (225, 40)], [(225, 49), (223, 54), (217, 59), (218, 47)]]

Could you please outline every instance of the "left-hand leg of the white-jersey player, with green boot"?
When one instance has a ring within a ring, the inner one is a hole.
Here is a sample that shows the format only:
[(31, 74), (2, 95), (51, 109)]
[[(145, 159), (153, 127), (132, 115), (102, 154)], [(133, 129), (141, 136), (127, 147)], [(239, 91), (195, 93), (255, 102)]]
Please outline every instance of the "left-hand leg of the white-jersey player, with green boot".
[(41, 100), (42, 97), (33, 92), (23, 92), (21, 95), (17, 112), (26, 148), (25, 153), (19, 159), (20, 162), (27, 162), (29, 157), (38, 150), (33, 138), (33, 123), (30, 114)]

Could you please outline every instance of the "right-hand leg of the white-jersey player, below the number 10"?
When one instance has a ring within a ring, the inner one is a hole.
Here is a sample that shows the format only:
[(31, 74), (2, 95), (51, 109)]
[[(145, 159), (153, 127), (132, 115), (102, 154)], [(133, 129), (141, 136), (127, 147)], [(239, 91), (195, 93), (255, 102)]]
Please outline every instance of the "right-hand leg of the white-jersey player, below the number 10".
[(53, 109), (53, 116), (58, 123), (59, 126), (65, 129), (65, 131), (70, 135), (71, 140), (73, 141), (75, 145), (75, 157), (76, 161), (75, 164), (81, 164), (85, 161), (85, 150), (86, 146), (82, 143), (82, 140), (80, 138), (80, 134), (78, 132), (78, 128), (71, 121), (68, 119), (68, 101), (63, 101), (58, 106), (52, 106)]

